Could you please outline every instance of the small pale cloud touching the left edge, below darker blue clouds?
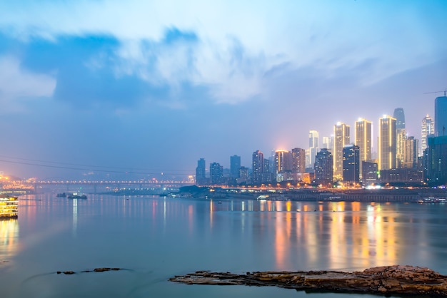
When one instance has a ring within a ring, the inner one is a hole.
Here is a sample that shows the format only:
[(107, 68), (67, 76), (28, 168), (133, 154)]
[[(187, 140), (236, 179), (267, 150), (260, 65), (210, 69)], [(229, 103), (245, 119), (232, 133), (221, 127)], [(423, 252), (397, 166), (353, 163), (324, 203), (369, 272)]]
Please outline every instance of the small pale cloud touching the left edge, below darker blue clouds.
[(24, 111), (29, 101), (51, 97), (55, 87), (54, 77), (24, 70), (14, 56), (0, 56), (1, 113)]

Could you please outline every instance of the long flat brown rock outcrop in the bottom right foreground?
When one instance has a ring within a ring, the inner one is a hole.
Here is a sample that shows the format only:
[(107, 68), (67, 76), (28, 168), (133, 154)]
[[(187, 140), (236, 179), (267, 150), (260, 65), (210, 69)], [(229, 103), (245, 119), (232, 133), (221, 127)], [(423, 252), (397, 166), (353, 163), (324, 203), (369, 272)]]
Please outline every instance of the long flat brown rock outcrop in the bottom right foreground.
[(383, 266), (361, 272), (230, 272), (198, 271), (169, 279), (185, 284), (246, 284), (290, 289), (364, 294), (417, 294), (447, 297), (447, 276), (425, 267)]

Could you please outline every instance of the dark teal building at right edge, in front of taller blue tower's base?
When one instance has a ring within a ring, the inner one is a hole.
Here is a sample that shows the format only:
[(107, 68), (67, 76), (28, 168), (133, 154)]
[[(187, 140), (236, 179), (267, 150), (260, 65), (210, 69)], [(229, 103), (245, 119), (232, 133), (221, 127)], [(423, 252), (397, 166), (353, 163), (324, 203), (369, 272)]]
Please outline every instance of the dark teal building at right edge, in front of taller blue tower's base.
[(424, 180), (429, 185), (445, 185), (447, 183), (447, 136), (429, 137), (424, 157)]

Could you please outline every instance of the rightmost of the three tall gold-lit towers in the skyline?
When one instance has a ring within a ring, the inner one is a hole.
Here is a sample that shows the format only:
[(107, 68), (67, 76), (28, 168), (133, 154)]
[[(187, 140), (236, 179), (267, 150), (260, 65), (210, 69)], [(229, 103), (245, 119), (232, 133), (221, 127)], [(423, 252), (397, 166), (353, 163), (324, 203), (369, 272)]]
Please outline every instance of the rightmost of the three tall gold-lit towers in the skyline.
[(378, 170), (396, 168), (396, 118), (378, 119)]

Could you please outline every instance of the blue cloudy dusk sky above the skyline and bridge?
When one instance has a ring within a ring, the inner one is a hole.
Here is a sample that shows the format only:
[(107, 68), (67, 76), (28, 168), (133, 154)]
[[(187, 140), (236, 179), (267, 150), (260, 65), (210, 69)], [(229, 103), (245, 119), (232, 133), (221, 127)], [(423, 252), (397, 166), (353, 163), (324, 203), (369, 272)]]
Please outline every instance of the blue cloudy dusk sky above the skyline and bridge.
[[(447, 88), (447, 1), (0, 1), (0, 172), (183, 178), (251, 167)], [(321, 140), (320, 140), (321, 142)]]

